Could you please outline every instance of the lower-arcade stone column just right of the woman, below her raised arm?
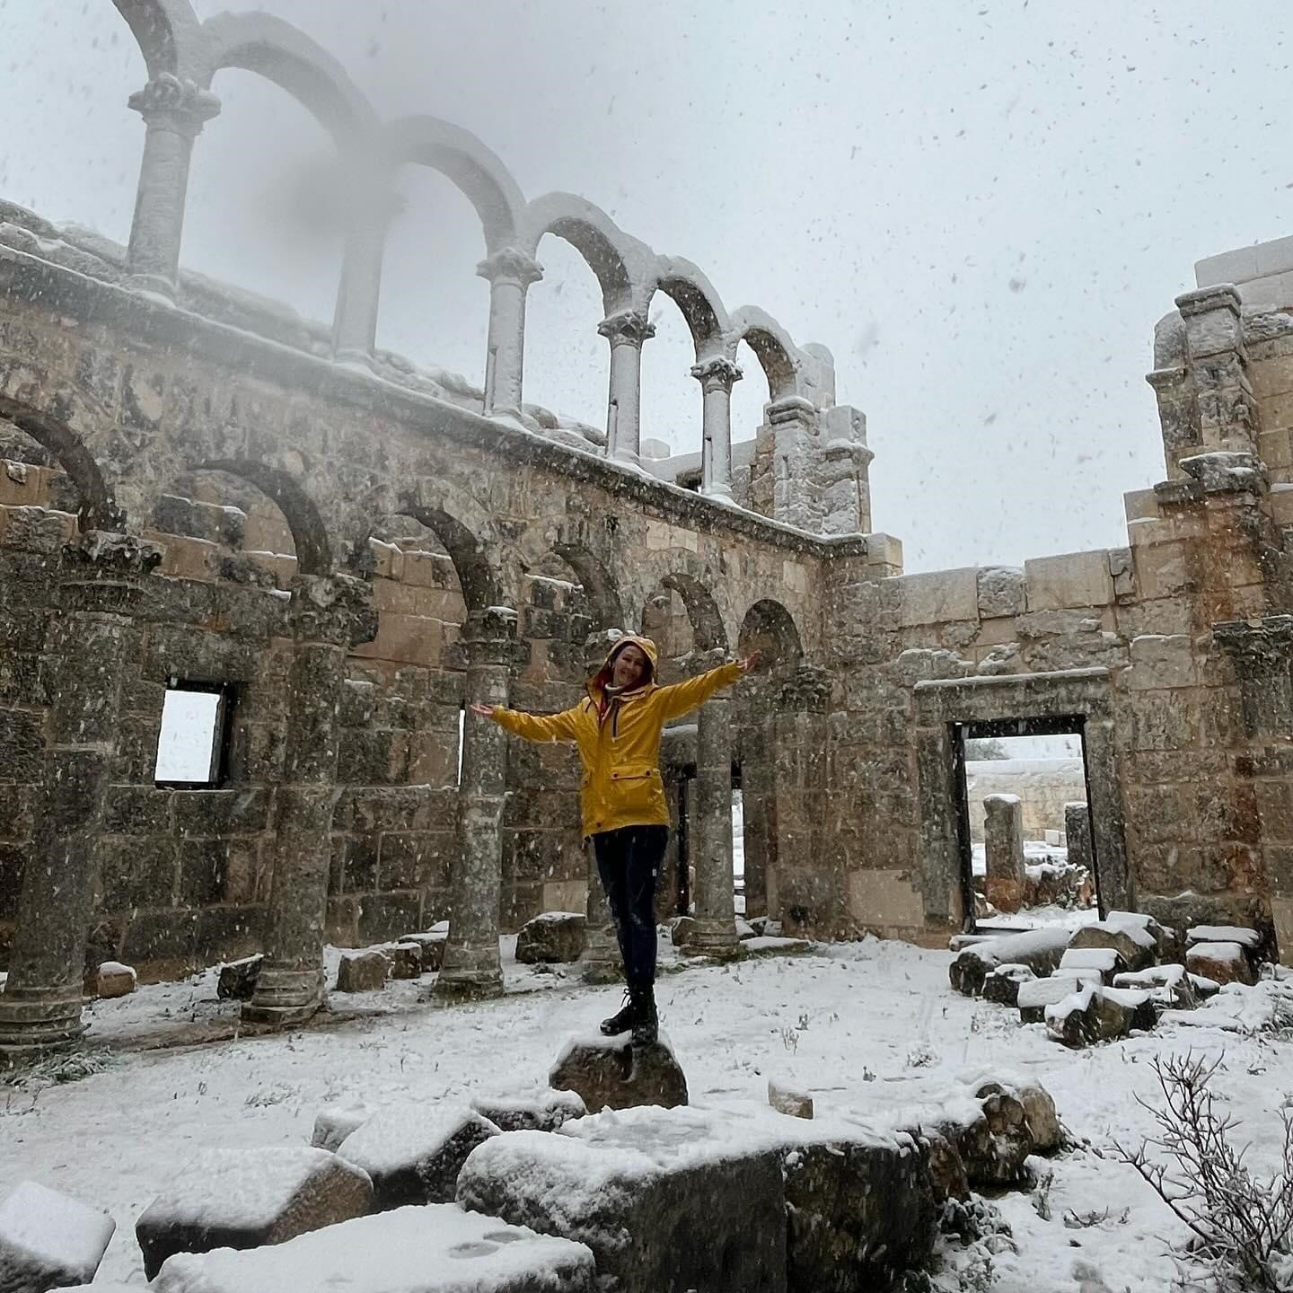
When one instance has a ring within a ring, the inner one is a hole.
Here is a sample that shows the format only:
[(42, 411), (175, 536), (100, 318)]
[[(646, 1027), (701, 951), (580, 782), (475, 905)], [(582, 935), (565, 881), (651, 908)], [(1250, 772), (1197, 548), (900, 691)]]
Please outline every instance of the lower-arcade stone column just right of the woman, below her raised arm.
[[(701, 663), (723, 663), (720, 652)], [(688, 952), (707, 957), (740, 956), (732, 883), (732, 702), (719, 694), (696, 716), (696, 821), (690, 835), (696, 884), (696, 928)]]

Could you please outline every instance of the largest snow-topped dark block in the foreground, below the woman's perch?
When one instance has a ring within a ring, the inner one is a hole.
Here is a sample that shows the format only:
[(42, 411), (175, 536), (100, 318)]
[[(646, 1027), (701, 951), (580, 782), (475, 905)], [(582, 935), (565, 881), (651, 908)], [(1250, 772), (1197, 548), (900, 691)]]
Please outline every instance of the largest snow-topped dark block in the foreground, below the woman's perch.
[(556, 1135), (509, 1131), (471, 1156), (458, 1202), (586, 1244), (599, 1276), (619, 1293), (781, 1293), (781, 1156), (771, 1144), (721, 1140), (702, 1115), (678, 1117), (690, 1112), (581, 1118)]

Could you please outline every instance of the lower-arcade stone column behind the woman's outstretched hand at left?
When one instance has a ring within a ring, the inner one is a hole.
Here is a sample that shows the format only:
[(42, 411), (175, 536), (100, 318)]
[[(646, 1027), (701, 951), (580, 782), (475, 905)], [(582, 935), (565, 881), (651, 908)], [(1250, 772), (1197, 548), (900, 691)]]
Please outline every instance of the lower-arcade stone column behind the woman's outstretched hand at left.
[[(498, 606), (471, 612), (462, 641), (467, 650), (467, 703), (507, 705), (516, 612)], [(449, 940), (434, 988), (438, 1001), (497, 997), (503, 992), (498, 932), (506, 793), (507, 733), (497, 723), (468, 715), (458, 787), (458, 856), (450, 877)]]

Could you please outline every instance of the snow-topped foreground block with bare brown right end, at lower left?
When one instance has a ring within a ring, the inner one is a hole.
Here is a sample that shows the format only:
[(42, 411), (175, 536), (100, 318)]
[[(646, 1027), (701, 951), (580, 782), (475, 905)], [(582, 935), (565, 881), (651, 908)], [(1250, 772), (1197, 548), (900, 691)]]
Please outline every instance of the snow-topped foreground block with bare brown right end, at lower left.
[(367, 1173), (325, 1149), (207, 1149), (142, 1212), (134, 1237), (153, 1279), (175, 1253), (282, 1244), (362, 1217), (371, 1202)]

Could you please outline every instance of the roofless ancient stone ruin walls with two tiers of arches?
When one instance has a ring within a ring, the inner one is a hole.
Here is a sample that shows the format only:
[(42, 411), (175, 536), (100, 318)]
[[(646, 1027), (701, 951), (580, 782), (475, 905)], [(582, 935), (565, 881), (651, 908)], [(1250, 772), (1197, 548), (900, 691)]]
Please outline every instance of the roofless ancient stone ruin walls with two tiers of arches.
[[(904, 575), (899, 542), (868, 533), (864, 419), (822, 347), (728, 312), (588, 202), (526, 202), (463, 131), (378, 122), (286, 23), (116, 3), (151, 78), (129, 248), (0, 208), (0, 1045), (75, 1036), (83, 972), (110, 959), (156, 978), (262, 950), (247, 1016), (291, 1021), (321, 1001), (325, 940), (449, 918), (451, 997), (498, 990), (500, 931), (538, 912), (587, 901), (600, 926), (572, 753), (460, 721), (471, 701), (572, 703), (621, 628), (654, 634), (670, 676), (769, 662), (668, 737), (665, 897), (694, 871), (694, 950), (736, 943), (733, 776), (750, 914), (945, 939), (963, 741), (1078, 732), (1103, 906), (1254, 924), (1288, 956), (1288, 240), (1202, 262), (1159, 325), (1166, 478), (1127, 495), (1126, 547)], [(225, 67), (371, 166), (331, 334), (178, 270)], [(481, 216), (484, 389), (374, 349), (403, 164)], [(547, 234), (601, 284), (605, 434), (524, 402)], [(639, 443), (657, 292), (696, 341), (698, 472)], [(733, 446), (741, 340), (768, 402)], [(156, 780), (176, 687), (221, 697), (209, 784)]]

